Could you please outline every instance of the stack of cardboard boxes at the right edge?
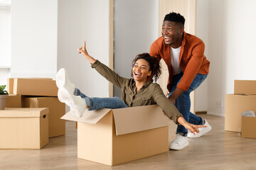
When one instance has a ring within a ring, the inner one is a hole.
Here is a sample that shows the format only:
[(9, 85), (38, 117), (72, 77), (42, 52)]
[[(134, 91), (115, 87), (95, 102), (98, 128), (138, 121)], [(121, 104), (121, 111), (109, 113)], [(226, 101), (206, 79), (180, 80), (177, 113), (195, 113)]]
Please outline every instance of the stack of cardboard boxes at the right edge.
[(234, 94), (225, 95), (225, 130), (256, 138), (256, 118), (242, 117), (245, 111), (256, 113), (256, 81), (235, 80)]

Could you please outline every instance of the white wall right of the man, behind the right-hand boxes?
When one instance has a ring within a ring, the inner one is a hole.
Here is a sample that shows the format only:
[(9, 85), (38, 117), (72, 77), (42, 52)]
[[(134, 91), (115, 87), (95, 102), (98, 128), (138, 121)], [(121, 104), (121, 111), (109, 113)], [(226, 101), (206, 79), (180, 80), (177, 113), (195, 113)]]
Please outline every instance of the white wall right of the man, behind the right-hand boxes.
[(209, 1), (210, 114), (225, 115), (225, 94), (233, 94), (234, 79), (256, 79), (255, 6), (253, 0)]

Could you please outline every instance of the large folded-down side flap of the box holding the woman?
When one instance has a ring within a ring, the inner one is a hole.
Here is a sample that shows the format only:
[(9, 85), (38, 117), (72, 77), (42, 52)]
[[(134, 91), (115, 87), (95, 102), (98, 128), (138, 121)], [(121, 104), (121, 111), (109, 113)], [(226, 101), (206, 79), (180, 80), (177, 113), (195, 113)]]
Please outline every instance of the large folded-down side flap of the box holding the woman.
[(156, 105), (119, 108), (112, 111), (117, 135), (161, 128), (169, 123), (169, 118)]

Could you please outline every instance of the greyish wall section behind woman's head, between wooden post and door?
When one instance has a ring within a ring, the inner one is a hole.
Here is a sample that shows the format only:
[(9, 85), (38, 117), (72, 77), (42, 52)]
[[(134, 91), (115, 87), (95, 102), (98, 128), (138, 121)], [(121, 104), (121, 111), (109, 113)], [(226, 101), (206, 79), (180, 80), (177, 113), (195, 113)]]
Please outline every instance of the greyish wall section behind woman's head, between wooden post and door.
[[(149, 52), (158, 38), (159, 2), (156, 0), (114, 1), (114, 71), (122, 77), (131, 77), (132, 60)], [(114, 96), (122, 91), (114, 88)]]

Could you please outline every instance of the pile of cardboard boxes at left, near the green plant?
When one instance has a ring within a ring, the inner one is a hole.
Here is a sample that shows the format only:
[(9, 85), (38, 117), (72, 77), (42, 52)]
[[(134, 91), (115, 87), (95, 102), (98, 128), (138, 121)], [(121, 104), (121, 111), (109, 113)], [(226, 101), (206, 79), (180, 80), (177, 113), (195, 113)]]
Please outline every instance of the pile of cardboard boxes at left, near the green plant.
[(0, 111), (0, 149), (41, 149), (48, 137), (65, 135), (65, 104), (53, 79), (8, 79)]

